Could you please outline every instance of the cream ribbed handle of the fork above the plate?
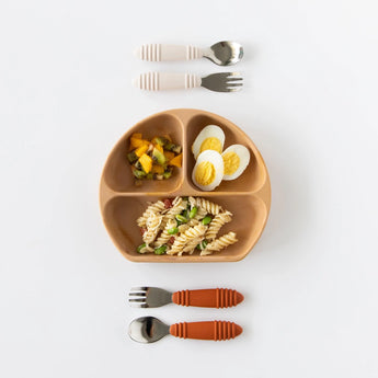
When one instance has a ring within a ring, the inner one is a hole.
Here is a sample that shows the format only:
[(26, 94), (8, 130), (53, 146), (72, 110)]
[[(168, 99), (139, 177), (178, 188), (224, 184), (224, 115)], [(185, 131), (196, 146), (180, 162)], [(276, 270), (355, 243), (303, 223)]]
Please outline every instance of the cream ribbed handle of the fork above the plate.
[(201, 78), (193, 73), (146, 72), (136, 78), (133, 83), (146, 91), (191, 89), (201, 85)]

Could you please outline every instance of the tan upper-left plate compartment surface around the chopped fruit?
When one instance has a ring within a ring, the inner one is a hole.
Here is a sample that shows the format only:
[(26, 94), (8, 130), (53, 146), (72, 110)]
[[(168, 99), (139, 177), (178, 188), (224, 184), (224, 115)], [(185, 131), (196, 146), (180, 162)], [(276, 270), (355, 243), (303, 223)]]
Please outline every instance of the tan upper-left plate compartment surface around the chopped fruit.
[(142, 180), (140, 186), (135, 184), (127, 160), (130, 137), (134, 133), (141, 133), (145, 139), (168, 134), (174, 144), (184, 148), (183, 125), (180, 119), (171, 114), (152, 115), (131, 127), (112, 150), (103, 171), (103, 180), (106, 185), (115, 192), (123, 193), (170, 193), (176, 191), (183, 181), (183, 168), (174, 167), (172, 176), (168, 180)]

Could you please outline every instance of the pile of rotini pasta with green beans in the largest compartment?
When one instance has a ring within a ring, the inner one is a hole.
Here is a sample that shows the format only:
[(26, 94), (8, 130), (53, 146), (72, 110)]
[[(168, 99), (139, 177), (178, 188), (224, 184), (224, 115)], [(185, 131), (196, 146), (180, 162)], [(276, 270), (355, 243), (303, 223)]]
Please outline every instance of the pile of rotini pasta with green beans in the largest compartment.
[(171, 255), (192, 254), (196, 250), (201, 255), (220, 251), (237, 242), (234, 232), (216, 239), (231, 217), (230, 211), (201, 197), (158, 201), (137, 219), (144, 240), (137, 251)]

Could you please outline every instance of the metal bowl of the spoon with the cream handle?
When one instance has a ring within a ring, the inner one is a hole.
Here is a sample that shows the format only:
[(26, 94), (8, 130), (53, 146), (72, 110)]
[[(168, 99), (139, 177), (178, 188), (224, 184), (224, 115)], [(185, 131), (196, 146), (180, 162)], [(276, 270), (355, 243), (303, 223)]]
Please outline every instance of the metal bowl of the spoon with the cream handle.
[(218, 66), (236, 65), (244, 55), (243, 47), (237, 42), (222, 41), (204, 51), (204, 57)]

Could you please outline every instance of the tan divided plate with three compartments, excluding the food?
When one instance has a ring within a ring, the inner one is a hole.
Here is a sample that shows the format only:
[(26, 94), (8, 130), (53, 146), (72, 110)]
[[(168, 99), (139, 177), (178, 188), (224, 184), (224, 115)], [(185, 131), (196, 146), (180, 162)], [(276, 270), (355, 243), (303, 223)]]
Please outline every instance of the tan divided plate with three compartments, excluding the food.
[[(237, 180), (222, 181), (213, 192), (202, 192), (192, 182), (195, 160), (191, 147), (198, 133), (207, 125), (222, 128), (226, 135), (224, 149), (240, 144), (251, 152), (247, 170)], [(183, 146), (182, 168), (175, 168), (169, 180), (144, 181), (141, 186), (135, 186), (126, 157), (133, 133), (142, 133), (147, 139), (169, 134), (174, 142)], [(218, 236), (234, 231), (239, 241), (206, 256), (199, 256), (197, 252), (182, 256), (137, 253), (136, 249), (142, 241), (136, 219), (145, 211), (148, 202), (176, 195), (205, 197), (230, 210), (233, 214), (232, 221), (225, 225)], [(139, 122), (114, 147), (101, 177), (100, 206), (111, 238), (128, 260), (150, 263), (231, 262), (243, 259), (259, 240), (270, 213), (271, 183), (259, 150), (230, 121), (198, 110), (171, 110)]]

